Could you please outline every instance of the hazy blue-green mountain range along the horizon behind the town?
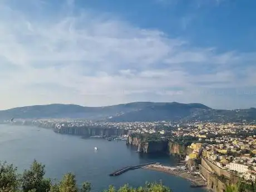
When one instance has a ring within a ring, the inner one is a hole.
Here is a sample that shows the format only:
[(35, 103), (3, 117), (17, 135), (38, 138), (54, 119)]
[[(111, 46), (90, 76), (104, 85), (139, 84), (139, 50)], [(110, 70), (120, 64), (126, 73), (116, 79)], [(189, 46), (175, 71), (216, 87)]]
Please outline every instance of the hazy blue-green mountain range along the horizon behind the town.
[(215, 110), (203, 104), (132, 102), (105, 107), (36, 105), (0, 111), (0, 119), (87, 119), (105, 121), (254, 121), (256, 109)]

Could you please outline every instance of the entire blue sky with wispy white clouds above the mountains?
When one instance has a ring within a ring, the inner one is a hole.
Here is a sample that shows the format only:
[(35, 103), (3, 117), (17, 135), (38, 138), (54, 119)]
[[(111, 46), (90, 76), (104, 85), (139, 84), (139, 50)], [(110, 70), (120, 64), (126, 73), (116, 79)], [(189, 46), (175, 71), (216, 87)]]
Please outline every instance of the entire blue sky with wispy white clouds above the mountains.
[(1, 0), (0, 110), (256, 107), (256, 1)]

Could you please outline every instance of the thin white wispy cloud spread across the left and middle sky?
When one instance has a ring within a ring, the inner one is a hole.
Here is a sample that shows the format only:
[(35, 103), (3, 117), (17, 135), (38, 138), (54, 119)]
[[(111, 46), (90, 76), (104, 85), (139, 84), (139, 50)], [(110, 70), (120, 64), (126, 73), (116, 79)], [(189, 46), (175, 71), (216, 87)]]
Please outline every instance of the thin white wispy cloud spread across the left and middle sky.
[[(191, 90), (255, 82), (253, 75), (241, 82), (234, 71), (221, 71), (243, 62), (243, 54), (196, 48), (161, 31), (86, 11), (60, 11), (38, 21), (8, 6), (7, 1), (0, 3), (0, 99), (4, 101), (0, 109), (56, 102), (89, 106), (137, 100), (204, 103), (209, 102), (205, 96)], [(65, 10), (73, 6), (68, 1)], [(199, 74), (183, 65), (193, 66)], [(218, 70), (209, 74), (200, 71), (200, 65)]]

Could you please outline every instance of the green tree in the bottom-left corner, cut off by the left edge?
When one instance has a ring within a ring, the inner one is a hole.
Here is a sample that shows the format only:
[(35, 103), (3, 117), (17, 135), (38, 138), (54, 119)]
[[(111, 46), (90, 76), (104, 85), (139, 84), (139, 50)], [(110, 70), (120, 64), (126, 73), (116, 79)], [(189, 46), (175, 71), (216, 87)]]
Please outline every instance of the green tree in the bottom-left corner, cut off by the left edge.
[(19, 186), (17, 168), (0, 162), (0, 191), (16, 191)]

